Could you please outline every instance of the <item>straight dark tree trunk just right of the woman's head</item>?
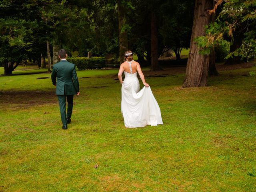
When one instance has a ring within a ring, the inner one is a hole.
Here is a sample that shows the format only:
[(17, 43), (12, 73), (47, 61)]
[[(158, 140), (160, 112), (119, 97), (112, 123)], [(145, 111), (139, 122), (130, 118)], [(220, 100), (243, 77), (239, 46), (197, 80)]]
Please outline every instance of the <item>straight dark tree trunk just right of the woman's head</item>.
[(156, 13), (151, 13), (151, 71), (158, 70), (158, 37)]

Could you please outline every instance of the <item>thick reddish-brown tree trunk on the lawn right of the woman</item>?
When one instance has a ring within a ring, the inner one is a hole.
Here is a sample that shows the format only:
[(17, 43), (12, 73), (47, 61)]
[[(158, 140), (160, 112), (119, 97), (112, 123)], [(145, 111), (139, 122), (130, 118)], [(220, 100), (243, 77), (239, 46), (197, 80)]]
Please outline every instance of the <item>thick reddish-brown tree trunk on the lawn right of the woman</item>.
[(194, 39), (205, 35), (204, 26), (211, 21), (211, 16), (207, 11), (213, 8), (213, 4), (213, 0), (196, 0), (190, 52), (183, 88), (207, 86), (209, 55), (199, 54), (199, 49)]

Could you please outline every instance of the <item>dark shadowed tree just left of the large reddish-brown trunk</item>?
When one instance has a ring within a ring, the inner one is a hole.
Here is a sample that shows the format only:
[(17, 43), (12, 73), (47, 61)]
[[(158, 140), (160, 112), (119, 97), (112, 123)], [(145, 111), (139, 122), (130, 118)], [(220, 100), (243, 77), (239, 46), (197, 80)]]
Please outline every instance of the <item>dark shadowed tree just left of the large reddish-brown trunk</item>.
[(190, 46), (194, 3), (191, 0), (172, 0), (160, 7), (162, 44), (175, 52), (177, 60), (180, 60), (182, 49)]

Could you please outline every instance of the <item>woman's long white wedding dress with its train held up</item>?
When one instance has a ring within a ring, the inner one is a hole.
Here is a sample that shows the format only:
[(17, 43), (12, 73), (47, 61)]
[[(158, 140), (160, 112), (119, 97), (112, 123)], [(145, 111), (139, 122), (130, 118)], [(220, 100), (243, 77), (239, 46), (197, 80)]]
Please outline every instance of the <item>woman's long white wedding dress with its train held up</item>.
[(127, 128), (136, 128), (163, 124), (160, 108), (150, 87), (144, 86), (140, 90), (137, 72), (130, 74), (124, 71), (124, 74), (121, 102), (124, 125)]

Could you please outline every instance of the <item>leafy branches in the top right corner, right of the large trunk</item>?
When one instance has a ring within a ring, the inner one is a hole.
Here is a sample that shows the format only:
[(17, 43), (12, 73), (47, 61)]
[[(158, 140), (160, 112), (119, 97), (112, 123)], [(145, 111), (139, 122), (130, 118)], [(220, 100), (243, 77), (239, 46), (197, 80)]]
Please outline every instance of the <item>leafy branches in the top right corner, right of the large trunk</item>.
[(220, 14), (231, 38), (227, 64), (240, 63), (256, 56), (256, 1), (226, 0)]

